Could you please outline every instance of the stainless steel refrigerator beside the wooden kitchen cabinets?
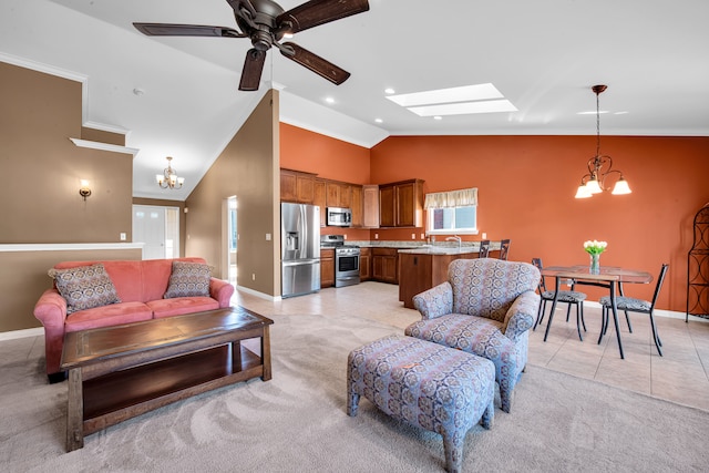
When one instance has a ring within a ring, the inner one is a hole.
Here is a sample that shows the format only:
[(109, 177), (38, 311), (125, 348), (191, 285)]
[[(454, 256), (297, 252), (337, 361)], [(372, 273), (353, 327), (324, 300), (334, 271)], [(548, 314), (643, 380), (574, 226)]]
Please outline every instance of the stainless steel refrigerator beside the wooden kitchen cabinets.
[(320, 207), (280, 204), (282, 297), (320, 290)]

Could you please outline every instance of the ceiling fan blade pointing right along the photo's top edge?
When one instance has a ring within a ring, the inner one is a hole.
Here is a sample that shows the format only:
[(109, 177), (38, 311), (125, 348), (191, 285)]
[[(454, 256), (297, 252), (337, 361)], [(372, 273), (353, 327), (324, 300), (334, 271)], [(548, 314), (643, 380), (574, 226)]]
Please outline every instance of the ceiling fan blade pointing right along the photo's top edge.
[[(291, 23), (291, 33), (328, 23), (369, 10), (367, 0), (310, 0), (288, 10), (276, 18), (276, 24), (280, 29), (284, 23)], [(285, 28), (282, 28), (285, 30)]]

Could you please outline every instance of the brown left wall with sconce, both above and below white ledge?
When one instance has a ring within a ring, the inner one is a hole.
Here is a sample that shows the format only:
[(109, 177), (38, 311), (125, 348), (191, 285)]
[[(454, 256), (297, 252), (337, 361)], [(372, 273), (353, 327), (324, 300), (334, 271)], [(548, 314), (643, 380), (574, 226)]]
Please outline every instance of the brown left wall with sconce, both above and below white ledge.
[[(83, 128), (81, 111), (81, 83), (0, 62), (0, 245), (120, 244), (121, 233), (131, 241), (133, 156), (76, 147), (70, 137), (124, 144)], [(86, 202), (80, 179), (91, 182)], [(32, 309), (55, 263), (123, 255), (0, 251), (0, 331), (39, 327)]]

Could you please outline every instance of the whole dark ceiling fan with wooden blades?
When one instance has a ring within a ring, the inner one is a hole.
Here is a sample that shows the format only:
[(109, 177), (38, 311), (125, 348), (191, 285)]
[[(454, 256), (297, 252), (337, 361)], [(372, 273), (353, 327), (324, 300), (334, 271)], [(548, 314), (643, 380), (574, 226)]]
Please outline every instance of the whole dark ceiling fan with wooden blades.
[(316, 74), (339, 85), (350, 73), (292, 42), (281, 43), (286, 34), (294, 34), (330, 21), (369, 10), (368, 0), (310, 0), (291, 10), (271, 0), (226, 0), (234, 10), (239, 30), (225, 27), (174, 23), (133, 23), (148, 37), (220, 37), (249, 38), (253, 48), (246, 53), (240, 91), (256, 91), (261, 79), (266, 51), (271, 47)]

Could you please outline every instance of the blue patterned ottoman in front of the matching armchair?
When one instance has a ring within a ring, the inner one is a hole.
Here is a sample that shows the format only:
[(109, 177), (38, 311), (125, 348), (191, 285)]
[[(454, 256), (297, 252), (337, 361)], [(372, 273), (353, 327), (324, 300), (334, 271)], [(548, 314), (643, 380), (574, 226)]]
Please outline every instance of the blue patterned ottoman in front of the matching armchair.
[(492, 361), (413, 337), (389, 336), (352, 350), (347, 362), (347, 413), (364, 395), (387, 414), (443, 435), (445, 466), (460, 472), (467, 431), (492, 426)]

